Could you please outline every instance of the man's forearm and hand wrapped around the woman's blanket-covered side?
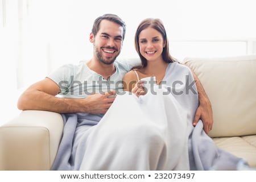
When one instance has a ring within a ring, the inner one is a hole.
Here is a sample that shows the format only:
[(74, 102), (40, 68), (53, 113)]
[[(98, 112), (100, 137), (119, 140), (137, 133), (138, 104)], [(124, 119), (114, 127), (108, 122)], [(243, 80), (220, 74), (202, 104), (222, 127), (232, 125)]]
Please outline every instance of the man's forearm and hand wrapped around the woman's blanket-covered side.
[(204, 131), (205, 133), (209, 133), (212, 130), (213, 125), (213, 113), (212, 113), (212, 105), (210, 104), (210, 100), (205, 93), (203, 85), (196, 74), (193, 73), (194, 80), (196, 82), (196, 88), (199, 96), (199, 107), (196, 110), (195, 118), (193, 120), (193, 126), (196, 126), (196, 123), (201, 119), (204, 123)]

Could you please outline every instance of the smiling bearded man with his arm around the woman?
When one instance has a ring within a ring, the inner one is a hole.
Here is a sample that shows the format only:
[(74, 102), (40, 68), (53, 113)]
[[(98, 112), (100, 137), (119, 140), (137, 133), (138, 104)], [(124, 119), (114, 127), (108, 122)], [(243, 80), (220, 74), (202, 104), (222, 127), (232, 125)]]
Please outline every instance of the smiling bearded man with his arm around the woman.
[[(114, 95), (115, 92), (109, 92), (106, 89), (109, 85), (104, 85), (104, 81), (113, 81), (111, 85), (113, 90), (121, 89), (118, 81), (120, 82), (123, 75), (133, 67), (132, 63), (129, 65), (129, 63), (115, 62), (121, 51), (125, 32), (125, 23), (118, 16), (105, 14), (98, 17), (94, 22), (89, 38), (94, 47), (92, 59), (87, 63), (81, 63), (77, 67), (75, 65), (65, 65), (51, 76), (31, 85), (20, 96), (18, 109), (47, 110), (57, 113), (106, 113), (115, 99), (115, 97), (109, 96)], [(74, 76), (74, 70), (80, 71), (77, 72), (79, 78)], [(195, 74), (194, 76), (195, 80), (198, 80)], [(77, 83), (76, 81), (79, 81), (79, 79), (82, 80)], [(72, 81), (72, 84), (65, 86), (65, 82), (70, 81)], [(68, 88), (68, 86), (70, 87)], [(201, 118), (204, 122), (205, 133), (209, 133), (213, 123), (212, 109), (200, 81), (196, 81), (196, 86), (199, 91), (200, 105), (193, 125), (195, 126)], [(104, 87), (106, 87), (105, 91), (108, 91), (105, 94), (102, 94), (104, 92), (89, 92), (88, 90), (96, 88), (98, 91), (103, 91)], [(79, 93), (75, 94), (78, 90)], [(85, 94), (81, 91), (84, 91)], [(57, 94), (63, 94), (64, 97), (55, 97)]]

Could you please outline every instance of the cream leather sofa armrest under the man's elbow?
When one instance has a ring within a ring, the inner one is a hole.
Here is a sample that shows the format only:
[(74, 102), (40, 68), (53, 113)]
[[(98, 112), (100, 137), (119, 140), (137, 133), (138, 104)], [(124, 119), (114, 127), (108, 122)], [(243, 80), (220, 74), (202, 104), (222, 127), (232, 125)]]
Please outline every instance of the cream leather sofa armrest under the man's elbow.
[(59, 113), (22, 111), (0, 127), (0, 170), (49, 170), (62, 133)]

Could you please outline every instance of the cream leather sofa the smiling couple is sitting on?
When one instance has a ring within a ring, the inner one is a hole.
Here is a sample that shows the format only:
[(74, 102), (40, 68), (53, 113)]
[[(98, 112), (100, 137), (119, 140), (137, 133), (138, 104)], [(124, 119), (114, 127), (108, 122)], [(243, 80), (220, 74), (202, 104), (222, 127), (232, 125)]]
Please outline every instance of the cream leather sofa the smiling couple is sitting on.
[[(256, 167), (256, 55), (186, 58), (213, 108), (209, 135)], [(48, 170), (63, 131), (61, 115), (27, 110), (0, 127), (1, 170)]]

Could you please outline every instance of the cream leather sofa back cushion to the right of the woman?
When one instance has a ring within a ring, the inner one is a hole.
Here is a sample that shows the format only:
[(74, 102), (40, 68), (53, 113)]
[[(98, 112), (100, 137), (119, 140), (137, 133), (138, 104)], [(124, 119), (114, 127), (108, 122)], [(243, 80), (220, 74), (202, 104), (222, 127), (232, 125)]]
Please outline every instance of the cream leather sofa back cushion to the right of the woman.
[(210, 137), (256, 134), (256, 55), (186, 57), (213, 109)]

